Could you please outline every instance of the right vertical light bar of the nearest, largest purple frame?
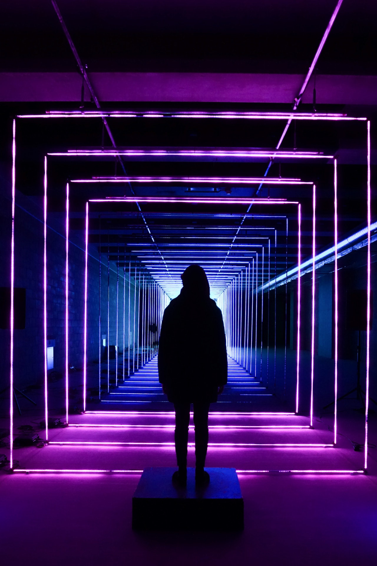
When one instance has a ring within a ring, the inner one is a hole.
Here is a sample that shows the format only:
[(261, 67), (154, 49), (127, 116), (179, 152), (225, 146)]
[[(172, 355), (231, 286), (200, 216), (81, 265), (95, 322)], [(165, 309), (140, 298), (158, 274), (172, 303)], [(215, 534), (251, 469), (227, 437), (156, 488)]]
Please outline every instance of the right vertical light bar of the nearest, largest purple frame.
[(368, 461), (368, 410), (369, 410), (369, 348), (370, 348), (370, 121), (367, 122), (367, 222), (368, 222), (368, 252), (367, 252), (367, 303), (366, 303), (366, 386), (365, 386), (365, 445), (364, 468)]

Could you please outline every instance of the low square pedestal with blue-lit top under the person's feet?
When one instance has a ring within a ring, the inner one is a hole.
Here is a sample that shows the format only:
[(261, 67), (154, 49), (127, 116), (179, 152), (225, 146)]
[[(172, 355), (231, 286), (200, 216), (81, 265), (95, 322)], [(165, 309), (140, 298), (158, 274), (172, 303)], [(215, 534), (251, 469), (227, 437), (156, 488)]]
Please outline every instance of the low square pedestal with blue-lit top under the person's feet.
[(242, 530), (244, 500), (235, 468), (206, 468), (210, 483), (195, 486), (187, 469), (187, 487), (175, 487), (177, 468), (146, 468), (132, 498), (132, 528), (153, 530)]

